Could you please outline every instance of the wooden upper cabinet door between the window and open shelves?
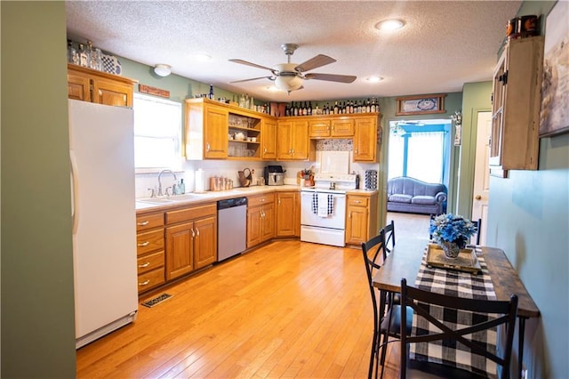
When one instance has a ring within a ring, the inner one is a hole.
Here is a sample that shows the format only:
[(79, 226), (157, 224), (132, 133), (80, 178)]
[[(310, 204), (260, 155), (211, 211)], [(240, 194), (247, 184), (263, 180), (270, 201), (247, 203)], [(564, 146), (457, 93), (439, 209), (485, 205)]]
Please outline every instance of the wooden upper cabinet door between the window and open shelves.
[(228, 110), (206, 106), (204, 112), (204, 157), (228, 157)]

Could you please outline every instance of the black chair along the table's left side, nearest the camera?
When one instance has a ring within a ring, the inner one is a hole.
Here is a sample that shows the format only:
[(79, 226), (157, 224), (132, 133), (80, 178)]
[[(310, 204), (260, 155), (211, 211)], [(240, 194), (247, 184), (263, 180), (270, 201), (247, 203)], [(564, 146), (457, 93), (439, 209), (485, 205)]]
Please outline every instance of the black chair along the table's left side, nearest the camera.
[[(378, 376), (378, 368), (381, 362), (381, 376), (383, 376), (383, 365), (385, 363), (386, 349), (389, 336), (399, 337), (401, 307), (389, 302), (388, 293), (380, 291), (373, 286), (373, 276), (378, 270), (381, 270), (383, 254), (385, 254), (385, 233), (380, 230), (380, 234), (362, 243), (362, 252), (364, 254), (365, 273), (367, 275), (367, 283), (372, 295), (373, 304), (373, 342), (372, 352), (370, 355), (370, 367), (368, 377)], [(381, 263), (380, 263), (381, 261)], [(376, 294), (379, 293), (379, 299)], [(407, 321), (406, 330), (411, 333), (413, 322), (413, 310), (407, 309), (408, 314), (405, 318)]]

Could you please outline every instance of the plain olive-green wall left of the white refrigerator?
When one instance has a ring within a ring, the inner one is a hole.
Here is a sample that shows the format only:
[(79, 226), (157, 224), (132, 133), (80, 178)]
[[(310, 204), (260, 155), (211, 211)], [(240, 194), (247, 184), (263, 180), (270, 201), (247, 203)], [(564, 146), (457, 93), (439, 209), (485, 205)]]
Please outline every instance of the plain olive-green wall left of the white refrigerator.
[(1, 7), (0, 375), (74, 377), (65, 3)]

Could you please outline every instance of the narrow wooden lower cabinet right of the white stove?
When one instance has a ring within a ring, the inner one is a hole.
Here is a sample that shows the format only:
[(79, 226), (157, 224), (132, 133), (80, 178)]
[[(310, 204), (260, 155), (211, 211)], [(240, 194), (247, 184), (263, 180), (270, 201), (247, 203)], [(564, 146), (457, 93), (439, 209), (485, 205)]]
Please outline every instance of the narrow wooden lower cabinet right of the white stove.
[(360, 245), (378, 229), (378, 194), (350, 195), (346, 200), (346, 244)]

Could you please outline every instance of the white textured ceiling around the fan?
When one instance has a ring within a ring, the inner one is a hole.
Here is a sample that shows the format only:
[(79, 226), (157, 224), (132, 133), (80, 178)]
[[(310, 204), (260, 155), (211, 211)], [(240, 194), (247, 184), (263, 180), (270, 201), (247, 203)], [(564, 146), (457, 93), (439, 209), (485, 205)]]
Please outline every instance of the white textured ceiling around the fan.
[[(521, 1), (68, 1), (68, 36), (182, 77), (272, 101), (334, 100), (460, 92), (490, 80), (506, 23)], [(381, 20), (405, 20), (381, 32)], [(299, 44), (293, 62), (317, 54), (337, 61), (313, 73), (354, 75), (352, 84), (307, 80), (290, 95), (271, 93), (268, 70), (286, 61), (280, 45)], [(192, 59), (206, 53), (207, 62)], [(376, 84), (365, 78), (377, 75)]]

